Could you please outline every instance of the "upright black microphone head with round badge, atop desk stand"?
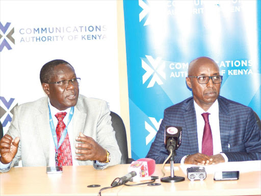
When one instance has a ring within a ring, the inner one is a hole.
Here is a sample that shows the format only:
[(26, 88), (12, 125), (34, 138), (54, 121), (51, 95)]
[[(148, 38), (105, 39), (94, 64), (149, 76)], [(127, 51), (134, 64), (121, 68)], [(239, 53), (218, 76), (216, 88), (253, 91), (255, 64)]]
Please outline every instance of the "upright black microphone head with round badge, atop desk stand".
[(182, 127), (172, 127), (172, 126), (166, 126), (165, 127), (165, 145), (166, 149), (170, 152), (174, 152), (178, 149), (178, 147), (181, 144), (181, 134), (182, 133)]

